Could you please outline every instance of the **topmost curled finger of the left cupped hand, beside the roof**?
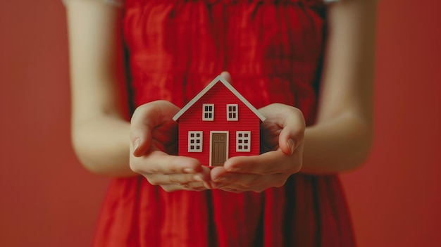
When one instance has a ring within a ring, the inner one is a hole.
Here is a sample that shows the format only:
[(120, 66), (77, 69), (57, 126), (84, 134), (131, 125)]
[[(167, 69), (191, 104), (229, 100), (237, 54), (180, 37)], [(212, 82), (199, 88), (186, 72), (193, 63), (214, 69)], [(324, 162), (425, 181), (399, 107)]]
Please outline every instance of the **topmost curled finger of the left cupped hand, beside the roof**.
[[(179, 108), (168, 101), (154, 101), (139, 106), (130, 120), (130, 151), (143, 156), (151, 146), (152, 130), (178, 113)], [(176, 125), (177, 126), (177, 125)]]

